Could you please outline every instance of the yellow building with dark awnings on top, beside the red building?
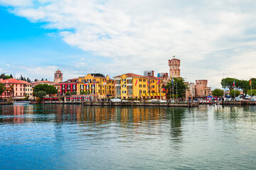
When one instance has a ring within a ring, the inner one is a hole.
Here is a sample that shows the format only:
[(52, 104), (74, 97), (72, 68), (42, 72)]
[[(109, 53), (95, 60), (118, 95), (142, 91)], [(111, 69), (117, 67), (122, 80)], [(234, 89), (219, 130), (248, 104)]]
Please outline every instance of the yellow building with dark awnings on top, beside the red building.
[(114, 97), (114, 80), (103, 74), (87, 74), (85, 77), (78, 77), (78, 94), (85, 91), (86, 94), (95, 94), (98, 99)]

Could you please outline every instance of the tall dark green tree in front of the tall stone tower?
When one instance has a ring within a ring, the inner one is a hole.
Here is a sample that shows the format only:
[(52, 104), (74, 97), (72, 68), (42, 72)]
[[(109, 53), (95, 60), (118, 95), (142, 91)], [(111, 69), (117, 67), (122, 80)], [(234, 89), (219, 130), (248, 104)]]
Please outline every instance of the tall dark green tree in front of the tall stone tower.
[[(174, 88), (173, 88), (174, 87)], [(167, 89), (167, 96), (170, 98), (170, 91), (171, 91), (171, 98), (172, 98), (172, 90), (174, 90), (174, 97), (181, 98), (185, 96), (186, 92), (186, 84), (184, 82), (184, 79), (179, 77), (179, 78), (174, 78), (174, 84), (171, 84), (171, 81), (167, 82), (165, 89)]]

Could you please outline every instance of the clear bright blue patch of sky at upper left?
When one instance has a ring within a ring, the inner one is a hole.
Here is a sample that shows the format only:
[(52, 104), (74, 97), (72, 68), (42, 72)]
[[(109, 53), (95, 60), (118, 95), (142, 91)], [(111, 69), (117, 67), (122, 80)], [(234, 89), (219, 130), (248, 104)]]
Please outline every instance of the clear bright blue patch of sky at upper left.
[[(65, 69), (66, 79), (90, 72), (86, 68), (74, 69), (74, 60), (99, 58), (90, 52), (68, 45), (58, 35), (58, 30), (44, 28), (46, 23), (31, 23), (26, 18), (15, 16), (9, 8), (0, 6), (0, 57), (1, 73), (23, 75), (31, 79), (53, 79), (53, 70)], [(104, 57), (100, 60), (105, 62)], [(35, 72), (31, 72), (33, 68)], [(28, 69), (30, 72), (24, 70)], [(42, 72), (43, 68), (50, 72)], [(70, 69), (69, 69), (70, 68)], [(95, 72), (97, 70), (93, 70)], [(92, 71), (91, 71), (92, 72)]]

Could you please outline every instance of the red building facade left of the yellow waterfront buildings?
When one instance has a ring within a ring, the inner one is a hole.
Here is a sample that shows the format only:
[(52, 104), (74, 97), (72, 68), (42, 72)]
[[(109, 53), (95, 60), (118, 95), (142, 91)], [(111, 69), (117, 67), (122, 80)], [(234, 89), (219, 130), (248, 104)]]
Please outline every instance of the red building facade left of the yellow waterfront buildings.
[(65, 93), (73, 91), (78, 91), (78, 79), (68, 79), (68, 81), (60, 82), (60, 95), (65, 95)]

